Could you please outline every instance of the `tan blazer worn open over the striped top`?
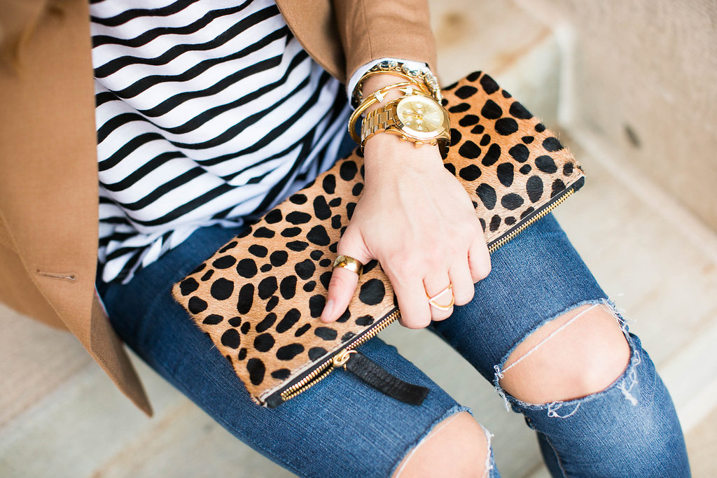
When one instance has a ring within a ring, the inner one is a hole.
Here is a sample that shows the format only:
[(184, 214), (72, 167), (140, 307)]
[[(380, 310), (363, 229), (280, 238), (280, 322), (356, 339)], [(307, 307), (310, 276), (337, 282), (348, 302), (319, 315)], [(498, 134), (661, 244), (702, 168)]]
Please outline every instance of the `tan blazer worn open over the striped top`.
[[(0, 0), (0, 302), (73, 333), (151, 416), (95, 295), (98, 166), (88, 4)], [(342, 82), (381, 57), (435, 67), (425, 0), (277, 5), (307, 52)]]

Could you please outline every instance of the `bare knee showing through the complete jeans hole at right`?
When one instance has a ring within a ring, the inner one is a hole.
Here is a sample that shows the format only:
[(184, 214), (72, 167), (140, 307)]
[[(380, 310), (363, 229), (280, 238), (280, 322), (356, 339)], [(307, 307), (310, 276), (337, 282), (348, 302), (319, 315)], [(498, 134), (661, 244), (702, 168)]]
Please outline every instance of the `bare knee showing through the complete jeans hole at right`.
[(612, 310), (602, 303), (565, 312), (528, 335), (500, 372), (500, 386), (526, 403), (582, 398), (625, 372), (630, 345)]

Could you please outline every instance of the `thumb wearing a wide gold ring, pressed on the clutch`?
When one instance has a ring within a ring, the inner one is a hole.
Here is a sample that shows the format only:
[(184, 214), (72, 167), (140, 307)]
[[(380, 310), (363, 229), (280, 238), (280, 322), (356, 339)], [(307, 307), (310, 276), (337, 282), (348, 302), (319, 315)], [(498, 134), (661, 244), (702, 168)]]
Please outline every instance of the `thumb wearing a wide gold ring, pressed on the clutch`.
[[(338, 241), (336, 247), (337, 256), (345, 255), (353, 257), (361, 264), (366, 264), (373, 257), (369, 254), (366, 247), (364, 237), (361, 231), (356, 227), (346, 227), (343, 236)], [(321, 320), (323, 322), (333, 322), (341, 317), (343, 312), (348, 308), (348, 302), (351, 302), (356, 286), (359, 285), (359, 274), (345, 267), (336, 267), (331, 273), (331, 281), (328, 283), (328, 296), (326, 297), (326, 306), (323, 307)]]

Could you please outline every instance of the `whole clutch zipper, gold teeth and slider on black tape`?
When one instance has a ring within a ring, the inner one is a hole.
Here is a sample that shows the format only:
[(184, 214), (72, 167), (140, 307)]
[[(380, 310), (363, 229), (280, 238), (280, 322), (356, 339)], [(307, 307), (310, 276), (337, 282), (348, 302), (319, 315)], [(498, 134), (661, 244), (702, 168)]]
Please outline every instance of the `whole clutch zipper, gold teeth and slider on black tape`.
[[(503, 236), (490, 242), (490, 244), (488, 244), (488, 252), (493, 253), (499, 247), (510, 242), (511, 239), (518, 236), (518, 234), (527, 229), (528, 226), (533, 224), (535, 221), (538, 221), (538, 219), (541, 219), (547, 214), (549, 214), (549, 212), (551, 212), (563, 201), (569, 198), (569, 196), (571, 196), (575, 191), (581, 188), (583, 184), (584, 177), (581, 177), (577, 181), (572, 183), (564, 191), (561, 191), (561, 193), (552, 198), (549, 203), (545, 204), (540, 209), (536, 209), (536, 211), (533, 211), (532, 214), (526, 216), (526, 218), (524, 218), (521, 222), (518, 222), (518, 224), (516, 224), (513, 229), (509, 229), (505, 234), (503, 234)], [(346, 345), (346, 347), (342, 348), (341, 350), (338, 350), (338, 352), (335, 353), (331, 358), (324, 360), (317, 367), (313, 368), (312, 371), (308, 372), (305, 376), (303, 376), (303, 378), (301, 378), (298, 382), (295, 382), (280, 391), (272, 393), (272, 395), (266, 399), (267, 405), (270, 408), (274, 408), (280, 403), (288, 401), (291, 398), (294, 398), (300, 393), (303, 393), (309, 388), (315, 386), (317, 383), (326, 378), (331, 372), (336, 370), (336, 368), (342, 366), (346, 368), (344, 364), (346, 363), (346, 361), (348, 361), (349, 355), (351, 353), (357, 352), (357, 350), (353, 349), (359, 347), (359, 345), (363, 343), (366, 343), (371, 338), (374, 338), (374, 336), (381, 332), (381, 330), (384, 330), (386, 327), (391, 325), (391, 323), (394, 322), (394, 320), (397, 320), (399, 317), (401, 317), (401, 311), (398, 309), (398, 307), (394, 310), (391, 310), (388, 315), (385, 315), (384, 318), (379, 320), (379, 322), (376, 322), (376, 325), (374, 325), (373, 328), (366, 330), (362, 335), (359, 336), (359, 338), (356, 338), (355, 340), (353, 340), (353, 342)]]

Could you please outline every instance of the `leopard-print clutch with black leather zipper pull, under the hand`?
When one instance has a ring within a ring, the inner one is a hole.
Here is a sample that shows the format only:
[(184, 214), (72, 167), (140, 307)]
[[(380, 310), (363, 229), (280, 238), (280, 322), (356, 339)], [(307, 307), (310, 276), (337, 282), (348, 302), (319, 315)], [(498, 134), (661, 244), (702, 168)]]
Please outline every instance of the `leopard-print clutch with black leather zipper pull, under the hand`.
[[(582, 186), (571, 153), (490, 76), (471, 73), (443, 95), (452, 125), (444, 164), (473, 199), (490, 252)], [(408, 403), (427, 393), (356, 350), (400, 314), (375, 260), (365, 264), (348, 310), (336, 322), (318, 318), (363, 181), (356, 150), (172, 289), (262, 406), (273, 408), (341, 367)]]

